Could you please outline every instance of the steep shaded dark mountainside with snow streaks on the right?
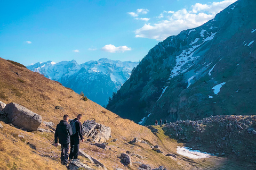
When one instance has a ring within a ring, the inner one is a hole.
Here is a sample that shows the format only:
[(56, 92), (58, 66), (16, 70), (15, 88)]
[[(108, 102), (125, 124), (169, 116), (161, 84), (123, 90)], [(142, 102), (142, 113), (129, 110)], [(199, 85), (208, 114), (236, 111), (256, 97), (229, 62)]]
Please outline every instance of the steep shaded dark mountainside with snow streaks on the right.
[(107, 109), (142, 124), (255, 114), (256, 1), (239, 0), (201, 27), (152, 48)]

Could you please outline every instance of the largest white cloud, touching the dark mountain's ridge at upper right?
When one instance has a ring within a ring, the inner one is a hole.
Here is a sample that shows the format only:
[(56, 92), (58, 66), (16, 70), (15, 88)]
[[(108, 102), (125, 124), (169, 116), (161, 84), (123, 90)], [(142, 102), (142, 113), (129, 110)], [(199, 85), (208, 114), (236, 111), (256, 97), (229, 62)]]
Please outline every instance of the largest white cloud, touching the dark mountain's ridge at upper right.
[[(164, 11), (157, 18), (158, 23), (145, 24), (142, 28), (135, 30), (135, 37), (164, 40), (169, 36), (178, 35), (180, 31), (195, 28), (214, 18), (214, 16), (228, 5), (237, 0), (225, 0), (211, 4), (195, 4), (191, 10), (185, 8), (179, 11)], [(169, 14), (169, 15), (168, 15)]]

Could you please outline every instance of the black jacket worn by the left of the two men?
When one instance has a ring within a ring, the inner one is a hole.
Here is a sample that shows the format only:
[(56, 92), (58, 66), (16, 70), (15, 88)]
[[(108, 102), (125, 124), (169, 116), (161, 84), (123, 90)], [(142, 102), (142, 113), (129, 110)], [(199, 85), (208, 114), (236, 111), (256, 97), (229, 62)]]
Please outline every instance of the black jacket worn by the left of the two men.
[(59, 138), (60, 144), (70, 143), (71, 135), (72, 135), (72, 128), (70, 124), (68, 124), (67, 121), (60, 121), (60, 123), (57, 124), (57, 128), (54, 135), (54, 141), (55, 143), (58, 143), (58, 138)]

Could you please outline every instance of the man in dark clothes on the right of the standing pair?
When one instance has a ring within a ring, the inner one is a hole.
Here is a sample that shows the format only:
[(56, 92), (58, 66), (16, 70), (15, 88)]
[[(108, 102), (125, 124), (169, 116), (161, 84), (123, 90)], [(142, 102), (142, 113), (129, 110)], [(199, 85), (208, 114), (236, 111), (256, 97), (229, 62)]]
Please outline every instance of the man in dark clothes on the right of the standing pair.
[(78, 114), (77, 117), (70, 122), (72, 127), (73, 135), (71, 135), (71, 143), (70, 143), (70, 154), (69, 160), (77, 159), (78, 152), (79, 152), (79, 137), (81, 138), (81, 142), (84, 141), (83, 134), (82, 134), (82, 123), (80, 122), (82, 118), (82, 114)]

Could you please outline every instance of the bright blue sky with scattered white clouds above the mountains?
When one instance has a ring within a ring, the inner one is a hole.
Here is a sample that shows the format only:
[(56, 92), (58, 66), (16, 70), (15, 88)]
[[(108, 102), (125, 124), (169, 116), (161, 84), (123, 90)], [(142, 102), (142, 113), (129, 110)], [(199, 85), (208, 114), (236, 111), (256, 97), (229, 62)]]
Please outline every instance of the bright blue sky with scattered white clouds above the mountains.
[(0, 1), (0, 57), (23, 65), (138, 62), (169, 36), (236, 0)]

